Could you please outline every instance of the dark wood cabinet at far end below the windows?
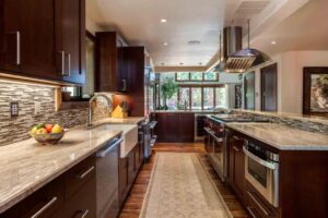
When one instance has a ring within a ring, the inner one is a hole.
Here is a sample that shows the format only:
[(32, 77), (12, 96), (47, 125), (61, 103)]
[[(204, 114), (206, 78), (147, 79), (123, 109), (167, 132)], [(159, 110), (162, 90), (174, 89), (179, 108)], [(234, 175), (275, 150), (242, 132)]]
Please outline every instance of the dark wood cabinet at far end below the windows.
[(184, 143), (194, 142), (195, 114), (189, 112), (157, 112), (154, 113), (157, 121), (155, 133), (157, 142)]

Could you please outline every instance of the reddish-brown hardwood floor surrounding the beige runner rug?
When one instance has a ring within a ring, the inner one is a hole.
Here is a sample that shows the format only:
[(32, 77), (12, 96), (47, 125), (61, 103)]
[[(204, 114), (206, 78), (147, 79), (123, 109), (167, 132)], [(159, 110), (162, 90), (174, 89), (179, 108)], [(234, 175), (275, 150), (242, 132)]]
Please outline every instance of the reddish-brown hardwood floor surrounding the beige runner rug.
[(155, 154), (161, 152), (173, 152), (173, 153), (199, 153), (200, 160), (206, 167), (207, 171), (210, 173), (213, 183), (216, 185), (220, 191), (225, 204), (227, 205), (230, 211), (232, 213), (234, 218), (246, 218), (248, 217), (245, 209), (236, 198), (236, 196), (232, 193), (232, 191), (225, 186), (214, 172), (212, 166), (210, 165), (206, 150), (202, 143), (159, 143), (153, 147), (154, 155), (150, 159), (149, 162), (145, 162), (139, 175), (132, 186), (131, 193), (128, 196), (124, 208), (120, 213), (120, 218), (138, 218), (142, 202), (145, 196), (147, 187), (150, 182), (151, 172), (153, 169)]

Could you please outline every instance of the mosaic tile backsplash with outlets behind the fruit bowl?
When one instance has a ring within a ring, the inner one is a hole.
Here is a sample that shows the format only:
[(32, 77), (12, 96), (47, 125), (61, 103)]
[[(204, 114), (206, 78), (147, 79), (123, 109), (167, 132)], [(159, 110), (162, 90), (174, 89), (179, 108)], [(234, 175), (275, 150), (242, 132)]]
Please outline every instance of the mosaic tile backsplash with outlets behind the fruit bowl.
[[(10, 117), (10, 102), (19, 102), (19, 117)], [(35, 102), (40, 112), (35, 116)], [(86, 123), (87, 109), (55, 111), (55, 88), (0, 82), (0, 146), (28, 138), (31, 126), (40, 122), (73, 128)]]

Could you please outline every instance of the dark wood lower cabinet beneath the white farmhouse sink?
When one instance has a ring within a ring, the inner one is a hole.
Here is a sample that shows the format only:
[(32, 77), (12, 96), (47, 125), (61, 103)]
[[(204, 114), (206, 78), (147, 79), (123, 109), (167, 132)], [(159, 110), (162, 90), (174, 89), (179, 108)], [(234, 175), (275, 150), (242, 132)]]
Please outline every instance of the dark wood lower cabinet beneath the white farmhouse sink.
[(142, 164), (143, 146), (140, 144), (137, 144), (125, 158), (119, 158), (118, 190), (120, 207), (124, 205)]

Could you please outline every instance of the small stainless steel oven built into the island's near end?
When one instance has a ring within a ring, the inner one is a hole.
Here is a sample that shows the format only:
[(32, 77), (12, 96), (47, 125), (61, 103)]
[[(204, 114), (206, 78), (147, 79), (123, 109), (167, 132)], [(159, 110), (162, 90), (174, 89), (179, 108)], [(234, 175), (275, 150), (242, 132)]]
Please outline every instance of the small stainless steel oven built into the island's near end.
[(279, 154), (245, 141), (245, 178), (274, 207), (279, 206)]

